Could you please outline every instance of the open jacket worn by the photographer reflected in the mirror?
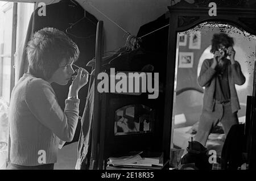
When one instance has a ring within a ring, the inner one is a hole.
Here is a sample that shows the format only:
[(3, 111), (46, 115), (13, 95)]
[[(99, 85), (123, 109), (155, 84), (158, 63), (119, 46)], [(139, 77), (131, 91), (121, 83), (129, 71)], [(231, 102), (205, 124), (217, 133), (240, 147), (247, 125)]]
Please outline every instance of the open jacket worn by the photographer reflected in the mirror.
[[(203, 108), (210, 112), (213, 111), (215, 105), (214, 91), (216, 85), (216, 76), (214, 76), (216, 75), (216, 70), (210, 67), (212, 63), (213, 59), (207, 59), (203, 62), (199, 78), (197, 79), (199, 85), (201, 87), (205, 87)], [(235, 64), (231, 64), (230, 61), (228, 62), (228, 80), (230, 88), (231, 108), (232, 112), (236, 112), (240, 110), (240, 104), (235, 84), (243, 85), (243, 83), (245, 83), (245, 76), (241, 71), (241, 66), (238, 61), (236, 61)]]

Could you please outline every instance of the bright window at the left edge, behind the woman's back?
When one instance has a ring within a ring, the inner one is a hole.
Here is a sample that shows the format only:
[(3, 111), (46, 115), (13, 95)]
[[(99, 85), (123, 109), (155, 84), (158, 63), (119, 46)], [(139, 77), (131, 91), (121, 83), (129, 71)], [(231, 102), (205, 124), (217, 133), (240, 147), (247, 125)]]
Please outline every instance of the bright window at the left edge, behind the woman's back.
[(10, 102), (34, 3), (0, 2), (0, 98)]

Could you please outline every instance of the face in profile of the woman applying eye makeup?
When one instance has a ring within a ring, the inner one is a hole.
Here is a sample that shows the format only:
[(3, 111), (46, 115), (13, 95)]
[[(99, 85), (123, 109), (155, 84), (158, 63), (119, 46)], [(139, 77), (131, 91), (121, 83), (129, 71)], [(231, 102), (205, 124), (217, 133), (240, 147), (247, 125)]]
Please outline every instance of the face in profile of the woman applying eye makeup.
[(67, 85), (68, 81), (72, 78), (72, 74), (75, 73), (72, 64), (73, 61), (61, 61), (59, 68), (53, 73), (50, 81), (59, 85)]

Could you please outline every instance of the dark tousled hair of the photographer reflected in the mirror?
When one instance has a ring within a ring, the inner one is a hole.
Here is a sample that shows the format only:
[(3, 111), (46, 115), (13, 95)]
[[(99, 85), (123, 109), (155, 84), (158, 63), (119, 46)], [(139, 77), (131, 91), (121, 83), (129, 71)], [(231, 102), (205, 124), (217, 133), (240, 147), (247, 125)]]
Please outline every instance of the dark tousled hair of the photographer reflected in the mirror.
[(212, 38), (212, 49), (210, 53), (215, 53), (218, 50), (219, 44), (224, 45), (226, 48), (233, 47), (233, 37), (229, 37), (226, 33), (215, 33)]

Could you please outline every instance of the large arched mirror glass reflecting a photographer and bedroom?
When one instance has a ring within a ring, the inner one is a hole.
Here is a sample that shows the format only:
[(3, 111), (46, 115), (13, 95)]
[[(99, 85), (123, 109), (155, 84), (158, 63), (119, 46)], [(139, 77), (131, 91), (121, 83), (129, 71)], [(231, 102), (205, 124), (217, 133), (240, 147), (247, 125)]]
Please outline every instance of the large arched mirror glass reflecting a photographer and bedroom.
[(221, 157), (230, 127), (245, 123), (255, 45), (255, 36), (226, 23), (177, 33), (171, 148), (186, 150), (193, 137)]

